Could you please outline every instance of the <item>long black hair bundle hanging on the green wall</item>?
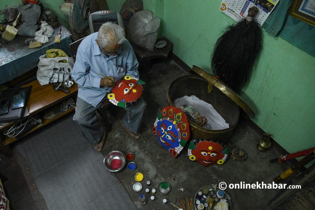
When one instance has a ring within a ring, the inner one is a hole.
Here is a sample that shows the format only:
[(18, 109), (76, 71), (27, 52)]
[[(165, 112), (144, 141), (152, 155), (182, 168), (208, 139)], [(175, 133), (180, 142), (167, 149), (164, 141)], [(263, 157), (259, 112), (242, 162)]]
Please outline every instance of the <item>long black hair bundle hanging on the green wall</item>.
[(249, 8), (246, 19), (229, 26), (215, 43), (211, 67), (215, 75), (236, 93), (247, 81), (261, 50), (262, 33), (253, 20), (256, 7)]

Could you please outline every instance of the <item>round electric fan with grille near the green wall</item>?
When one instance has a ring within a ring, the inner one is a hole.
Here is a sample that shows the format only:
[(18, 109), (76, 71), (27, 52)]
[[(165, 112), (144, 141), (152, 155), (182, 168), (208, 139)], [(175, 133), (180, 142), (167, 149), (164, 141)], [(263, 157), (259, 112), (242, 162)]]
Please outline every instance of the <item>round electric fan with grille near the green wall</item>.
[(72, 30), (78, 34), (84, 33), (89, 27), (89, 16), (95, 12), (94, 0), (72, 0), (62, 3), (59, 8), (63, 14), (69, 16)]

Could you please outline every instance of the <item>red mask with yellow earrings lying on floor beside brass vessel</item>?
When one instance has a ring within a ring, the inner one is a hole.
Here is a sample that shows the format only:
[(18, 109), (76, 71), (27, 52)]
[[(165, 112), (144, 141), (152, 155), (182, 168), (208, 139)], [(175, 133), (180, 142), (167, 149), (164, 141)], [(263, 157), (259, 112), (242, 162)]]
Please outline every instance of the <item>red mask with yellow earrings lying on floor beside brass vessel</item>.
[(225, 144), (208, 139), (193, 139), (188, 146), (189, 159), (204, 166), (223, 164), (228, 153), (229, 149)]

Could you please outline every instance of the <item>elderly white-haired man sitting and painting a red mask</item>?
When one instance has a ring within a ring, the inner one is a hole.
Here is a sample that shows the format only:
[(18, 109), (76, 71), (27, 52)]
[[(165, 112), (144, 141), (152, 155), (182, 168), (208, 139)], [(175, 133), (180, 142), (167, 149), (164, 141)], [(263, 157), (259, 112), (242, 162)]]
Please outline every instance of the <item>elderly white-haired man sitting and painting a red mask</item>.
[[(103, 148), (107, 129), (97, 120), (95, 111), (116, 82), (126, 74), (139, 78), (138, 66), (135, 52), (125, 39), (123, 28), (116, 24), (103, 24), (98, 32), (87, 36), (79, 45), (72, 71), (72, 77), (78, 84), (73, 120), (98, 151)], [(140, 99), (126, 109), (128, 113), (120, 120), (123, 129), (136, 139), (140, 138), (139, 128), (145, 108), (146, 102)]]

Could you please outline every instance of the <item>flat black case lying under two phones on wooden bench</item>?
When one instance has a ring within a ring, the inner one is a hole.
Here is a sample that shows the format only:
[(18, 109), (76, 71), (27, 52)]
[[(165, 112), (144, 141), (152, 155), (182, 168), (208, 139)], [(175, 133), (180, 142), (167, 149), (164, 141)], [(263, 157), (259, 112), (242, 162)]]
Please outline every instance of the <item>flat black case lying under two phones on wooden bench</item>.
[[(26, 91), (24, 106), (12, 110), (11, 106), (13, 103), (13, 95), (15, 92), (19, 92), (22, 90)], [(14, 121), (22, 120), (24, 117), (26, 107), (27, 107), (28, 98), (30, 97), (30, 93), (31, 93), (31, 86), (25, 87), (25, 88), (10, 88), (10, 89), (3, 90), (0, 95), (0, 102), (9, 100), (9, 111), (7, 114), (0, 116), (0, 122), (14, 122)]]

